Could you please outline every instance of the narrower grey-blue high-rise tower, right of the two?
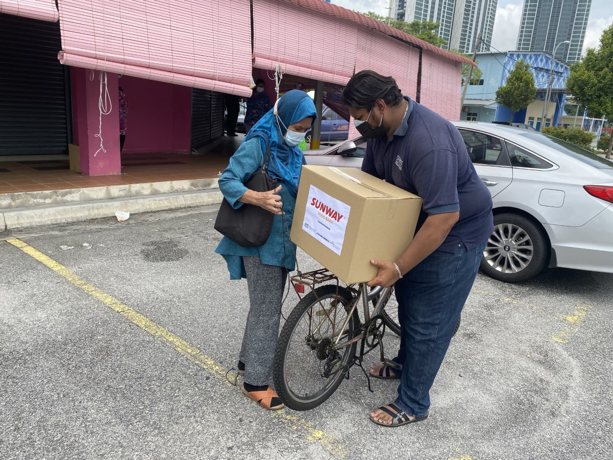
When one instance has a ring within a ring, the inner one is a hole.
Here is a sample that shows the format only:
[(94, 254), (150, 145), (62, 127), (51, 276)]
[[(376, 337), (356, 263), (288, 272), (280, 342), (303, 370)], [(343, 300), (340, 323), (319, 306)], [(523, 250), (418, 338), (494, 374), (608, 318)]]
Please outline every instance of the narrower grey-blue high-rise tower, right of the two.
[(592, 0), (525, 0), (517, 50), (553, 53), (557, 44), (569, 40), (556, 57), (579, 61), (591, 6)]

